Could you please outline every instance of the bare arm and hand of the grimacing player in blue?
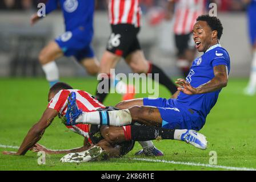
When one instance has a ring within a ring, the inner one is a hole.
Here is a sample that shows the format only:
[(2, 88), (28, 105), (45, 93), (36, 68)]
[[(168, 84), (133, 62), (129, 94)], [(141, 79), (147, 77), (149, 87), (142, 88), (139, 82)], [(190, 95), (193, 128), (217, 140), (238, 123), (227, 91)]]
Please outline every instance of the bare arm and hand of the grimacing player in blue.
[(219, 90), (225, 86), (227, 86), (228, 74), (226, 65), (218, 65), (214, 68), (214, 78), (209, 82), (194, 88), (184, 79), (179, 78), (175, 83), (181, 85), (181, 88), (178, 88), (179, 91), (188, 94), (202, 94), (209, 93)]

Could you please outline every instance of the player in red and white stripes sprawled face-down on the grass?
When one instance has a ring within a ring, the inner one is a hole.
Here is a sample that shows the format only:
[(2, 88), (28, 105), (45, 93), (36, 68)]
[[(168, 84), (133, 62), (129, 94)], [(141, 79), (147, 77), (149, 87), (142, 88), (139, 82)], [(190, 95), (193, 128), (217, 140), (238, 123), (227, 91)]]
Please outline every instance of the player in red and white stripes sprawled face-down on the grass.
[[(54, 154), (66, 154), (67, 152), (82, 152), (92, 147), (93, 145), (91, 144), (97, 144), (97, 146), (103, 148), (103, 150), (105, 150), (109, 156), (116, 157), (125, 155), (127, 152), (129, 152), (133, 148), (134, 140), (149, 140), (156, 138), (185, 140), (186, 142), (193, 144), (195, 147), (202, 148), (202, 145), (199, 146), (198, 144), (201, 142), (197, 139), (198, 136), (191, 136), (193, 134), (190, 134), (187, 132), (187, 130), (169, 130), (149, 126), (98, 127), (97, 125), (78, 124), (68, 127), (72, 131), (83, 135), (83, 137), (86, 138), (86, 141), (88, 139), (89, 142), (85, 142), (83, 147), (75, 148), (73, 150), (47, 150), (46, 148), (43, 148), (36, 143), (41, 139), (46, 128), (51, 124), (51, 122), (53, 122), (53, 119), (57, 115), (59, 115), (59, 117), (63, 117), (66, 112), (70, 113), (70, 110), (67, 110), (67, 97), (71, 92), (77, 93), (78, 98), (76, 101), (78, 102), (79, 108), (83, 110), (111, 110), (111, 107), (106, 108), (97, 100), (95, 100), (90, 94), (82, 90), (73, 90), (71, 86), (62, 82), (58, 82), (50, 89), (48, 96), (49, 105), (43, 113), (42, 118), (29, 130), (29, 133), (23, 140), (23, 143), (21, 144), (18, 152), (4, 152), (4, 154), (25, 155), (26, 152), (31, 148), (34, 150), (45, 150), (46, 152)], [(95, 134), (99, 135), (99, 137), (94, 136)], [(190, 142), (189, 138), (193, 138), (193, 141)], [(148, 148), (146, 152), (158, 151), (155, 149), (156, 148), (153, 146)], [(158, 151), (158, 154), (159, 152), (160, 151)], [(85, 153), (83, 154), (84, 155), (81, 156), (82, 158), (85, 157)]]

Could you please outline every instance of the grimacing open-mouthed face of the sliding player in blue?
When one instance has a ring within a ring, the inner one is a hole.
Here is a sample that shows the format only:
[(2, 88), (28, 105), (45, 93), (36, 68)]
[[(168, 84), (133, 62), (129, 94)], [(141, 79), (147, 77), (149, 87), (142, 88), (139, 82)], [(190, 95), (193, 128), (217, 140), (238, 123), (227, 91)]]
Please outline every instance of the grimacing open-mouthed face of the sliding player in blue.
[(198, 21), (193, 28), (195, 48), (199, 52), (206, 52), (208, 48), (217, 44), (217, 31), (212, 31), (205, 21)]

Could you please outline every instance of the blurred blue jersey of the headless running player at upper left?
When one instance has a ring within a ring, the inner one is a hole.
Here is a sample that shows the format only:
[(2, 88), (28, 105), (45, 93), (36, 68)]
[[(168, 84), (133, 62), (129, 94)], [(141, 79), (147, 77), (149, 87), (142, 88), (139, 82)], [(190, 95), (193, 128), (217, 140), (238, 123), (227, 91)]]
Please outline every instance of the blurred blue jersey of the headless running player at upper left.
[(93, 30), (93, 14), (95, 0), (49, 0), (46, 3), (46, 14), (61, 6), (65, 19), (66, 31), (83, 27)]

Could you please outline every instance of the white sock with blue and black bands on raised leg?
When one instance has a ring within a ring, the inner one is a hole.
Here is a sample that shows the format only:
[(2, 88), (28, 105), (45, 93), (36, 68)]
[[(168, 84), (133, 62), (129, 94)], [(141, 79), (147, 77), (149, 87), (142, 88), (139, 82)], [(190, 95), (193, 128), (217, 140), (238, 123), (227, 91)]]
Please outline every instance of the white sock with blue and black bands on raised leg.
[[(107, 114), (109, 115), (109, 117), (107, 117)], [(131, 114), (129, 109), (83, 112), (81, 115), (79, 115), (75, 123), (125, 126), (131, 124)]]

